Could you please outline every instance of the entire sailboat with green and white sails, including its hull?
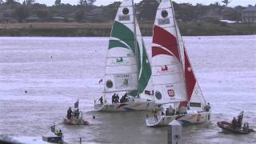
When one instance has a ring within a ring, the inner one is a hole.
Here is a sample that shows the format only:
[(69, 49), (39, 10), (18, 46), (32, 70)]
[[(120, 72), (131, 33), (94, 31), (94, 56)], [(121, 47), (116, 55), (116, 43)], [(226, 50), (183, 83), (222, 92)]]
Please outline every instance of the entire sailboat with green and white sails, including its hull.
[[(151, 67), (141, 31), (134, 14), (134, 1), (123, 0), (111, 30), (103, 78), (102, 102), (94, 101), (99, 111), (152, 110), (154, 92)], [(122, 102), (113, 100), (117, 95)]]

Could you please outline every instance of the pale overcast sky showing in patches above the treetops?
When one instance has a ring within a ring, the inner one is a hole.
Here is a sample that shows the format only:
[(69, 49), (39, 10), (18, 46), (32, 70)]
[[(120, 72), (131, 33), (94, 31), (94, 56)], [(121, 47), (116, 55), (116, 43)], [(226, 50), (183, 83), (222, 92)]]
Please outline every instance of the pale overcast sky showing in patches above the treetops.
[[(19, 0), (22, 2), (23, 0)], [(101, 5), (108, 5), (115, 1), (122, 1), (122, 0), (96, 0), (95, 5), (101, 6)], [(140, 2), (141, 0), (134, 0), (134, 2)], [(54, 4), (55, 0), (36, 0), (38, 3), (45, 3), (48, 6), (51, 6)], [(174, 2), (182, 3), (182, 2), (190, 2), (193, 4), (196, 3), (202, 3), (204, 5), (209, 5), (210, 3), (214, 2), (222, 2), (222, 0), (174, 0)], [(77, 5), (78, 0), (62, 0), (62, 3), (70, 3), (71, 5)], [(248, 5), (255, 5), (255, 0), (231, 0), (230, 6), (248, 6)]]

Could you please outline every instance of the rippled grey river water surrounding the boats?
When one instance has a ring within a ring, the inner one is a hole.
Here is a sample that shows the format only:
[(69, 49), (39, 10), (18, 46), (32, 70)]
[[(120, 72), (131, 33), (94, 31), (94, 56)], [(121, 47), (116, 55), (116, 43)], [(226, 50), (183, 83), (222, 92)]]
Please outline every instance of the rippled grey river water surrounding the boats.
[[(223, 134), (216, 124), (245, 110), (244, 121), (256, 129), (256, 36), (184, 40), (213, 112), (210, 123), (183, 127), (183, 142), (256, 143), (255, 133)], [(166, 143), (166, 127), (146, 127), (144, 112), (91, 111), (107, 46), (108, 38), (0, 38), (0, 134), (40, 138), (80, 98), (90, 126), (58, 125), (67, 142)]]

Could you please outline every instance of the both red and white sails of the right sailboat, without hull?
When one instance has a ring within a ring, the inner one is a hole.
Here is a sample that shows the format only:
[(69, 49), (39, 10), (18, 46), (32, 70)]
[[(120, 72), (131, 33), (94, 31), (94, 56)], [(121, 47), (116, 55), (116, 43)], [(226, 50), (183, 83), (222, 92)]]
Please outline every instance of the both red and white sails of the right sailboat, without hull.
[[(198, 110), (202, 110), (206, 106), (206, 100), (194, 76), (194, 71), (182, 41), (182, 36), (174, 17), (174, 8), (170, 0), (162, 0), (158, 6), (154, 22), (152, 58), (154, 90), (161, 91), (162, 88), (162, 93), (165, 93), (163, 95), (165, 98), (162, 99), (157, 98), (156, 95), (155, 102), (173, 103), (180, 100), (179, 106), (187, 106), (188, 102), (190, 102), (190, 106), (200, 108)], [(155, 69), (159, 71), (159, 66), (167, 66), (163, 69), (167, 70), (162, 72), (162, 74), (155, 74)], [(157, 81), (155, 80), (156, 78), (158, 78)], [(159, 84), (158, 81), (160, 81)], [(170, 94), (166, 95), (166, 88), (168, 87), (166, 82), (174, 83), (174, 88), (167, 91), (171, 91), (171, 94), (174, 91), (174, 97), (178, 93), (178, 98), (170, 98)]]

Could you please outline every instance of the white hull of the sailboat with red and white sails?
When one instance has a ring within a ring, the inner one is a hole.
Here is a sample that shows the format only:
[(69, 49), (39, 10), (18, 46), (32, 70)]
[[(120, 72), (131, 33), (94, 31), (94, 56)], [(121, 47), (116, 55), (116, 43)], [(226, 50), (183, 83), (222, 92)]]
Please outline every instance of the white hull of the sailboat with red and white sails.
[(180, 115), (158, 115), (158, 121), (153, 117), (146, 118), (146, 126), (167, 126), (170, 122), (176, 119), (182, 125), (193, 125), (202, 122), (210, 121), (210, 112), (190, 111), (188, 114)]

